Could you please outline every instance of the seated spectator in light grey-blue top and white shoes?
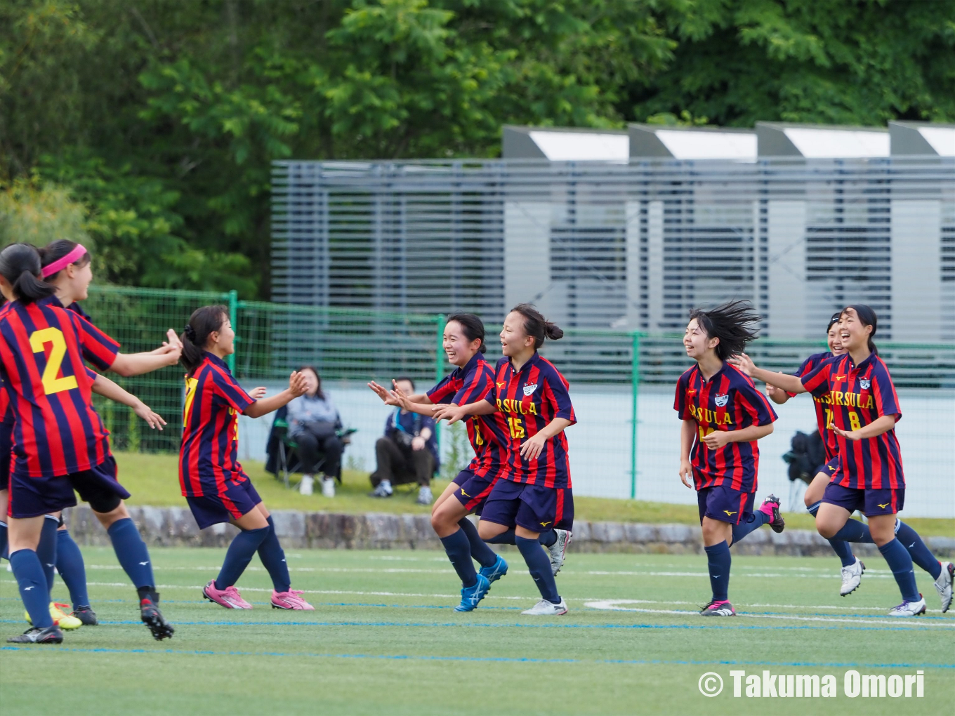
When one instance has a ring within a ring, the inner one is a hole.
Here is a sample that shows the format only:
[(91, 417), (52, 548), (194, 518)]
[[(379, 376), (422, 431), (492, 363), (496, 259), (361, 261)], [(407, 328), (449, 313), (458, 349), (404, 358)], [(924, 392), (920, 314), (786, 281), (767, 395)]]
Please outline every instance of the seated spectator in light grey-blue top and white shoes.
[(308, 391), (288, 403), (288, 435), (296, 442), (302, 463), (302, 483), (299, 492), (311, 495), (315, 468), (325, 455), (322, 472), (322, 495), (335, 496), (335, 480), (342, 479), (342, 441), (336, 431), (342, 428), (338, 409), (322, 390), (322, 379), (311, 366), (299, 369), (306, 378)]

